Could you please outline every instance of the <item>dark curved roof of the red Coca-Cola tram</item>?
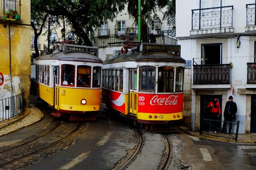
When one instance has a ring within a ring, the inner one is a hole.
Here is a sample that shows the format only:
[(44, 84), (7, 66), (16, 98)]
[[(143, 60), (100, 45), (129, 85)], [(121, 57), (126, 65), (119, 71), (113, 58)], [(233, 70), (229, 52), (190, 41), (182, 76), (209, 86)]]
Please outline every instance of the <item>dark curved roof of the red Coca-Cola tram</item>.
[(115, 55), (113, 58), (105, 60), (103, 63), (117, 63), (117, 62), (179, 62), (185, 63), (185, 59), (181, 58), (179, 54), (173, 54), (170, 52), (149, 52), (139, 53), (136, 51), (129, 51), (127, 53), (121, 53)]

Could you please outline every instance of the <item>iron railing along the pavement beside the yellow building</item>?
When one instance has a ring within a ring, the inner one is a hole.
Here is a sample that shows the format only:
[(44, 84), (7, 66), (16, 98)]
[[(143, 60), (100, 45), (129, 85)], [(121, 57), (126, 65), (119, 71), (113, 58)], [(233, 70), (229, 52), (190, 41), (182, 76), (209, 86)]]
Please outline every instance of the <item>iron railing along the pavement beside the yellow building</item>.
[(23, 93), (0, 100), (0, 122), (22, 114)]

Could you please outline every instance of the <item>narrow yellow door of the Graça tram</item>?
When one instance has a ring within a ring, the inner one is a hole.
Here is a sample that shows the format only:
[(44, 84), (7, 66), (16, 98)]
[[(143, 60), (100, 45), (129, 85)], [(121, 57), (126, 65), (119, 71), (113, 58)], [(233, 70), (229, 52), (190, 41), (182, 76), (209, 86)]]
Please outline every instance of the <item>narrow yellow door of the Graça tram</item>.
[(54, 74), (54, 108), (59, 109), (59, 81), (60, 81), (60, 67), (55, 66)]

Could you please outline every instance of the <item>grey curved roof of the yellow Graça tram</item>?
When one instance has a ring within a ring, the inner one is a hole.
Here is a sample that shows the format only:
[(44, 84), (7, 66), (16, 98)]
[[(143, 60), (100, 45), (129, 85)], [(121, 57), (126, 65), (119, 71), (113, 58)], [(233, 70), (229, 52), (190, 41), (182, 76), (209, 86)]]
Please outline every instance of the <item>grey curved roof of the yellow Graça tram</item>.
[(93, 54), (79, 53), (79, 52), (66, 53), (66, 54), (64, 52), (59, 52), (59, 53), (53, 52), (53, 54), (47, 54), (47, 55), (39, 56), (36, 58), (36, 60), (45, 60), (45, 59), (102, 63), (102, 59), (100, 59), (97, 56), (94, 56)]

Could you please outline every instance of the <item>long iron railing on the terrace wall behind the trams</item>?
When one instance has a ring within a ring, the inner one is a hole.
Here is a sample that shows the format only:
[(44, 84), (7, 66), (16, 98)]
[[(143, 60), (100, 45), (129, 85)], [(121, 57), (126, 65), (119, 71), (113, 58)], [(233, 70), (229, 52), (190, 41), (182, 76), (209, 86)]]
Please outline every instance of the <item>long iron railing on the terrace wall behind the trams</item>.
[[(148, 35), (149, 37), (149, 35)], [(155, 36), (157, 44), (177, 44), (177, 40), (167, 36)], [(94, 37), (91, 39), (93, 46), (106, 48), (108, 46), (122, 45), (125, 41), (138, 42), (137, 35), (109, 35), (108, 37)], [(149, 42), (149, 40), (148, 40)]]

